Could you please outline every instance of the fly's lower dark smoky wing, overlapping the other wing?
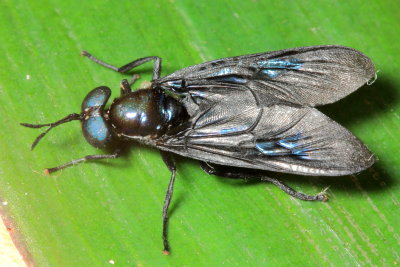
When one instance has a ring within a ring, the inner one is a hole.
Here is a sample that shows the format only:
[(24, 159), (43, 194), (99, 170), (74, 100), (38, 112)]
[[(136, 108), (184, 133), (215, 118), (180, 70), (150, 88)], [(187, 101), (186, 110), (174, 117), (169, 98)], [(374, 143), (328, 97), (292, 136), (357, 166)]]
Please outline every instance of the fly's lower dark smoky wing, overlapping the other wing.
[(190, 127), (165, 135), (158, 142), (162, 150), (221, 165), (303, 175), (346, 175), (374, 162), (355, 136), (315, 108), (266, 107), (243, 85), (198, 87), (182, 103), (191, 113)]

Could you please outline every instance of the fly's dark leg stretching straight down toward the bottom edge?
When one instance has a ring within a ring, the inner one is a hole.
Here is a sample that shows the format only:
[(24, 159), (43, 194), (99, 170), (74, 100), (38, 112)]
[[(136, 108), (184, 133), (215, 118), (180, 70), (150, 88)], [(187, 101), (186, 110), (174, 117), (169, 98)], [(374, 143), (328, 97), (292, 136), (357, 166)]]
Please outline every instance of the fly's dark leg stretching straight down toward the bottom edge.
[(165, 255), (169, 255), (170, 247), (168, 243), (168, 208), (169, 204), (171, 203), (172, 194), (174, 191), (176, 165), (171, 158), (171, 154), (161, 151), (161, 156), (164, 160), (165, 165), (167, 165), (168, 169), (171, 171), (171, 178), (169, 180), (167, 193), (165, 194), (164, 207), (163, 207), (163, 243), (164, 243), (163, 253)]

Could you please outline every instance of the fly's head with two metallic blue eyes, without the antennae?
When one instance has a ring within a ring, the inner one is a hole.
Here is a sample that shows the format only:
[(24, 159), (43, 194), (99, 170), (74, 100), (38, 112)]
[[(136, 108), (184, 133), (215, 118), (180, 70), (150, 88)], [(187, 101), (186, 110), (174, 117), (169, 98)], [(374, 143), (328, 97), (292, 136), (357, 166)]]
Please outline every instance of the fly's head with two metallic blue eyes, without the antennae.
[(86, 141), (97, 148), (106, 148), (112, 142), (111, 127), (103, 116), (110, 95), (110, 88), (100, 86), (90, 91), (82, 102), (82, 112), (85, 114), (82, 132)]

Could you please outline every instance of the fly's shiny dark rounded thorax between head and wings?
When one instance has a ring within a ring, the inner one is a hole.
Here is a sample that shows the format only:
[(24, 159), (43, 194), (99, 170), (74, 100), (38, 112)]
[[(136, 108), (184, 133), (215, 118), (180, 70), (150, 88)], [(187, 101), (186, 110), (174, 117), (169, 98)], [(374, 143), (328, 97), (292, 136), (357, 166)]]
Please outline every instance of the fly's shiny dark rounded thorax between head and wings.
[(116, 99), (108, 110), (108, 119), (118, 135), (158, 137), (179, 121), (183, 109), (163, 92), (138, 90)]

